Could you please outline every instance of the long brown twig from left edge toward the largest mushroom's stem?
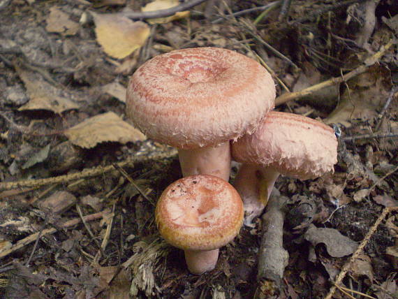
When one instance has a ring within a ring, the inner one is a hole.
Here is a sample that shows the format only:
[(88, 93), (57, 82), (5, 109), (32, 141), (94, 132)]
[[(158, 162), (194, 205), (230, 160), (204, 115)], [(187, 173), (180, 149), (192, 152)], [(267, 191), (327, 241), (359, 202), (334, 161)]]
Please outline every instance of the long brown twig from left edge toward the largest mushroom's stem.
[[(125, 166), (134, 166), (135, 163), (145, 163), (148, 161), (168, 159), (177, 154), (177, 150), (174, 148), (166, 147), (162, 152), (156, 152), (152, 154), (142, 155), (142, 156), (133, 156), (131, 159), (127, 159), (125, 161), (121, 161), (117, 163), (120, 167)], [(84, 169), (80, 173), (73, 173), (71, 175), (59, 175), (57, 177), (48, 177), (46, 179), (38, 179), (38, 180), (21, 180), (17, 182), (0, 182), (0, 191), (1, 190), (10, 190), (17, 188), (29, 188), (29, 187), (42, 187), (47, 184), (58, 184), (58, 183), (66, 183), (71, 182), (73, 180), (80, 180), (82, 178), (87, 177), (95, 177), (97, 175), (103, 175), (104, 173), (108, 173), (112, 170), (115, 170), (113, 165), (110, 166), (98, 166), (96, 168)]]

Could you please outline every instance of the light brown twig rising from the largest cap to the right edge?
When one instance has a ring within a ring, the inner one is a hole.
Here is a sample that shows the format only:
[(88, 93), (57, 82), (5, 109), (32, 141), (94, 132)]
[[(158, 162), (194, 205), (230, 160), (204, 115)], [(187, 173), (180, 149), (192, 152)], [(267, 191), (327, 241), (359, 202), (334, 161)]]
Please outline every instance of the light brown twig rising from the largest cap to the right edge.
[(388, 42), (385, 46), (381, 47), (381, 49), (374, 54), (373, 56), (370, 57), (370, 59), (367, 59), (365, 61), (365, 64), (362, 66), (359, 66), (358, 68), (355, 68), (355, 70), (346, 73), (345, 75), (342, 75), (341, 77), (338, 78), (332, 78), (329, 80), (326, 80), (324, 82), (320, 82), (317, 85), (313, 85), (311, 87), (308, 87), (306, 89), (301, 90), (300, 92), (289, 92), (286, 94), (282, 94), (281, 96), (278, 96), (277, 99), (275, 99), (275, 105), (281, 105), (283, 103), (286, 103), (288, 101), (292, 100), (297, 100), (297, 99), (302, 99), (304, 96), (309, 96), (310, 94), (313, 94), (314, 92), (323, 89), (325, 87), (330, 87), (332, 85), (337, 85), (340, 84), (341, 82), (346, 82), (347, 80), (355, 77), (356, 75), (360, 75), (361, 73), (364, 73), (369, 66), (375, 64), (378, 59), (380, 59), (383, 54), (394, 44), (394, 41)]

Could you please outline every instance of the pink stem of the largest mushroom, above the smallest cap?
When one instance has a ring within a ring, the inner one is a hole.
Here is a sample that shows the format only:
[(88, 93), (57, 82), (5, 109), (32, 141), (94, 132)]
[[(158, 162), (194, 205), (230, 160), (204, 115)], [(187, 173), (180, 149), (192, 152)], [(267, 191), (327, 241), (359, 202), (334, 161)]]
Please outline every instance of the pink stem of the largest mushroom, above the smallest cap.
[(230, 177), (230, 143), (215, 147), (178, 149), (182, 175), (214, 175), (228, 182)]

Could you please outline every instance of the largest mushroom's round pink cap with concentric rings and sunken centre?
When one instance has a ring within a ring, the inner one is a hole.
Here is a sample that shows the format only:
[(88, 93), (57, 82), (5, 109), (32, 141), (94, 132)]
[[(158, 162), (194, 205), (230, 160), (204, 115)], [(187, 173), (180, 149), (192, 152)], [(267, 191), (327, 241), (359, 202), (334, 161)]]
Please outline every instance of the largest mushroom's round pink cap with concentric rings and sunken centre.
[(274, 99), (271, 75), (253, 59), (191, 48), (140, 66), (128, 84), (126, 113), (149, 138), (189, 149), (253, 132)]

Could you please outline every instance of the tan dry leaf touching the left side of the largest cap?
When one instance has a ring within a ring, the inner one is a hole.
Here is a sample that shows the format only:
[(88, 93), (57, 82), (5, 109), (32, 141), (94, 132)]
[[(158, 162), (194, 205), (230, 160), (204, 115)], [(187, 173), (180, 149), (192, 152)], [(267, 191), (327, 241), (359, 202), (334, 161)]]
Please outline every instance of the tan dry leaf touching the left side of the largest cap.
[(107, 112), (86, 119), (65, 131), (71, 143), (84, 148), (95, 147), (98, 143), (128, 143), (145, 140), (145, 135), (124, 122), (114, 112)]

